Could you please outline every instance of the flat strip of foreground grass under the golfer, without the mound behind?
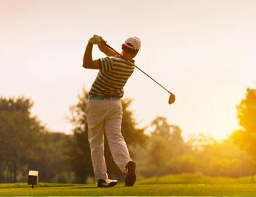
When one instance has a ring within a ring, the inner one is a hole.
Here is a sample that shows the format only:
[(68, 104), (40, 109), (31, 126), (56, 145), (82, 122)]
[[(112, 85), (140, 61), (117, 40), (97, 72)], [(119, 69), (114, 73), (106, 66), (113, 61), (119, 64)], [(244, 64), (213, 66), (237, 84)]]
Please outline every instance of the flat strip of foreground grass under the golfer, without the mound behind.
[(255, 196), (255, 184), (135, 184), (97, 188), (95, 185), (1, 184), (0, 196)]

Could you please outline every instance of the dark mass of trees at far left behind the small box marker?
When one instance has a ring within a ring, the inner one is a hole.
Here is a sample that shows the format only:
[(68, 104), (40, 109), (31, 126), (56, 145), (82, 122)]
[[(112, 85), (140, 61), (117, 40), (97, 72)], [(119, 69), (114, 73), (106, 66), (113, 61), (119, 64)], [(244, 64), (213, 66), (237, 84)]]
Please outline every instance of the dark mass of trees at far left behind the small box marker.
[(71, 182), (71, 136), (47, 131), (31, 116), (32, 105), (0, 98), (0, 182), (26, 182), (29, 170), (39, 171), (42, 182)]

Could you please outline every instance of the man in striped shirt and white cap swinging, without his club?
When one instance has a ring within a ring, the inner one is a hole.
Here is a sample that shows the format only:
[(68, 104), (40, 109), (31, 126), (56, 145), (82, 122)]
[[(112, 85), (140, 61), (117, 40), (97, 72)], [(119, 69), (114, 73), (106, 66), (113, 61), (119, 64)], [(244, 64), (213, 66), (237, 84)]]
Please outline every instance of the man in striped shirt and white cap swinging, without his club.
[[(133, 58), (140, 50), (140, 39), (129, 37), (121, 46), (121, 56), (105, 45), (101, 36), (94, 35), (86, 46), (83, 56), (83, 67), (99, 69), (86, 104), (86, 119), (89, 129), (91, 161), (98, 187), (109, 187), (117, 184), (108, 178), (104, 158), (104, 134), (107, 136), (113, 160), (125, 174), (125, 184), (134, 185), (136, 181), (135, 162), (129, 157), (129, 151), (121, 134), (122, 106), (120, 99), (124, 95), (124, 85), (134, 71)], [(92, 59), (93, 45), (107, 57)]]

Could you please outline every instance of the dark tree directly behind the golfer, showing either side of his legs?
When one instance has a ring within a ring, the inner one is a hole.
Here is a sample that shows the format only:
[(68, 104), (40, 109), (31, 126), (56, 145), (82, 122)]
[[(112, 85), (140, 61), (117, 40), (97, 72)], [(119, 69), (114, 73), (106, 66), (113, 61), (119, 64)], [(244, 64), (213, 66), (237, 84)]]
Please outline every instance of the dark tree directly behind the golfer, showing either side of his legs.
[[(70, 121), (75, 126), (73, 129), (71, 161), (72, 169), (75, 171), (76, 182), (86, 182), (88, 177), (94, 176), (94, 171), (91, 164), (91, 152), (89, 147), (88, 127), (85, 114), (85, 107), (88, 96), (88, 92), (83, 90), (83, 93), (78, 96), (78, 104), (70, 107), (70, 111), (72, 112)], [(131, 104), (131, 102), (132, 100), (130, 99), (121, 100), (123, 106), (121, 133), (127, 142), (127, 146), (131, 152), (131, 155), (133, 155), (134, 152), (131, 151), (132, 147), (135, 147), (136, 145), (143, 145), (146, 142), (146, 135), (143, 133), (143, 128), (136, 128), (133, 112), (129, 110), (129, 104)], [(116, 177), (120, 180), (122, 174), (116, 166), (116, 163), (113, 162), (106, 137), (105, 160), (108, 174), (111, 177)]]

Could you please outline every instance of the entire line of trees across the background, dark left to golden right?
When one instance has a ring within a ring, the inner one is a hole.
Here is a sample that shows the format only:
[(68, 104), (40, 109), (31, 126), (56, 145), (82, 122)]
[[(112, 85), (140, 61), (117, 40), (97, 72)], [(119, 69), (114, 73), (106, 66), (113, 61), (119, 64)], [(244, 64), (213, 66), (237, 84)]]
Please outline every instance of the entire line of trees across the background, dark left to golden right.
[[(29, 169), (39, 171), (41, 182), (89, 182), (94, 177), (88, 142), (85, 107), (88, 92), (70, 107), (72, 134), (48, 131), (31, 115), (33, 102), (24, 97), (0, 97), (0, 182), (26, 182)], [(156, 117), (145, 134), (138, 128), (129, 105), (122, 99), (121, 133), (140, 177), (198, 173), (213, 177), (242, 177), (255, 174), (256, 90), (248, 88), (237, 106), (241, 128), (217, 142), (209, 136), (184, 142), (181, 128)], [(105, 138), (105, 158), (111, 178), (123, 179)]]

